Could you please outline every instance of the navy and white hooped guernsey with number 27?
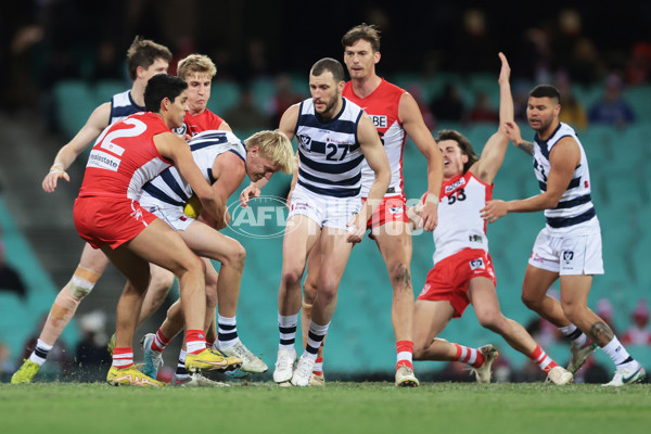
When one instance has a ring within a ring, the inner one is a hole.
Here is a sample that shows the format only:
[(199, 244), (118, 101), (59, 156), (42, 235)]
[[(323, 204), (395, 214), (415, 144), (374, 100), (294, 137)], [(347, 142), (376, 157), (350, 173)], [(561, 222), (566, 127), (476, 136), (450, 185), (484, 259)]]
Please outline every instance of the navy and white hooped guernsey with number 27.
[(345, 98), (343, 101), (341, 112), (328, 122), (316, 115), (311, 99), (301, 103), (294, 131), (301, 158), (297, 182), (317, 194), (356, 197), (365, 159), (357, 140), (363, 111)]

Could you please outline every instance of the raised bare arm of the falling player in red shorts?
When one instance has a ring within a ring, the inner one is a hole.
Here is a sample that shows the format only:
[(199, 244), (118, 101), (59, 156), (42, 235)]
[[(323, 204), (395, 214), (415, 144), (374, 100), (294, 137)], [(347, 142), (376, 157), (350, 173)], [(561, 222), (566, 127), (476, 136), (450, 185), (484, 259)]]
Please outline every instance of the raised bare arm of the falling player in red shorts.
[(497, 171), (505, 161), (505, 154), (509, 146), (509, 136), (506, 131), (506, 123), (513, 123), (513, 98), (509, 77), (511, 68), (507, 58), (499, 53), (501, 69), (499, 73), (499, 128), (486, 142), (480, 161), (470, 168), (482, 181), (492, 184)]

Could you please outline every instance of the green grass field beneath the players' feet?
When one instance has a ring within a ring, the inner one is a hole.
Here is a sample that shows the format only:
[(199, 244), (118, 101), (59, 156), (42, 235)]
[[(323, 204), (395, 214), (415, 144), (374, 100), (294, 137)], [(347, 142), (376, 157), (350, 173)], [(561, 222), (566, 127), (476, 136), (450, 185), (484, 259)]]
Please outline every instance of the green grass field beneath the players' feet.
[(651, 385), (329, 383), (282, 388), (143, 390), (101, 383), (0, 384), (13, 433), (647, 433)]

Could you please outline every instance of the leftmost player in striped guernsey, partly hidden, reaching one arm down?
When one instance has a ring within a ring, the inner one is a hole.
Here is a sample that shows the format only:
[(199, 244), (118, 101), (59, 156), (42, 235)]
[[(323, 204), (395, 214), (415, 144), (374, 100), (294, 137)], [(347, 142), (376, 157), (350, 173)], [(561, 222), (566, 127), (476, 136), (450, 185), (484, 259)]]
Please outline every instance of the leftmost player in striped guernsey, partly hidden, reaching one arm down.
[[(129, 76), (133, 80), (130, 90), (117, 93), (98, 106), (86, 125), (66, 143), (54, 158), (54, 164), (42, 182), (46, 192), (52, 193), (60, 179), (69, 182), (65, 171), (84, 150), (91, 144), (107, 126), (138, 112), (144, 112), (144, 89), (151, 77), (167, 73), (171, 61), (171, 52), (165, 46), (137, 36), (127, 51)], [(108, 259), (100, 250), (86, 244), (71, 281), (59, 292), (43, 330), (38, 337), (35, 352), (23, 362), (12, 376), (13, 383), (29, 383), (46, 361), (67, 323), (71, 321), (79, 303), (93, 289), (100, 279)], [(174, 275), (164, 268), (152, 266), (152, 281), (143, 304), (140, 322), (149, 318), (165, 301), (167, 292), (174, 283)]]

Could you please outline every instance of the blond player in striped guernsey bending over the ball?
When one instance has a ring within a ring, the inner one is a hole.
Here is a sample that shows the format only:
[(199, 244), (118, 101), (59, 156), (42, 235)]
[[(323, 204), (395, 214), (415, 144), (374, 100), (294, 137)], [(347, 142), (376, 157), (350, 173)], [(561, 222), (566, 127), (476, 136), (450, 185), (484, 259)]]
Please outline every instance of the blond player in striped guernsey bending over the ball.
[[(292, 173), (294, 155), (292, 144), (280, 131), (260, 131), (242, 143), (232, 132), (204, 131), (189, 142), (194, 162), (222, 202), (242, 183), (247, 175), (252, 181), (283, 170)], [(183, 205), (193, 192), (178, 170), (169, 170), (154, 178), (143, 189), (140, 204), (157, 217), (167, 221), (179, 232), (188, 246), (204, 258), (206, 264), (206, 322), (205, 328), (214, 327), (215, 307), (219, 305), (219, 334), (216, 346), (227, 356), (235, 357), (245, 372), (267, 371), (263, 360), (251, 353), (240, 341), (237, 332), (235, 312), (240, 295), (240, 283), (244, 268), (245, 251), (232, 238), (183, 214)], [(210, 259), (221, 263), (219, 273)], [(165, 346), (183, 328), (180, 301), (168, 310), (167, 319), (157, 333), (148, 334), (143, 340), (145, 366), (143, 372), (156, 378)], [(184, 355), (181, 354), (181, 358)], [(180, 361), (180, 359), (179, 359)], [(186, 378), (177, 372), (177, 383), (181, 385), (214, 385), (207, 379)]]

